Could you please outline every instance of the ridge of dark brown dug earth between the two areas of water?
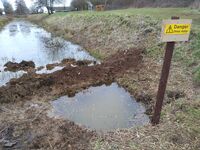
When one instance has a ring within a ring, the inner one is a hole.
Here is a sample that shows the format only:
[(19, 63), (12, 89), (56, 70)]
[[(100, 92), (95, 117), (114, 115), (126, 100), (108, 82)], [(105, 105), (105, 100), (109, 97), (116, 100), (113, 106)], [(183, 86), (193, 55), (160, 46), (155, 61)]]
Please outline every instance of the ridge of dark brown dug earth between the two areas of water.
[(142, 51), (121, 51), (102, 64), (95, 66), (66, 66), (52, 74), (29, 73), (10, 81), (0, 88), (0, 103), (30, 100), (52, 100), (61, 95), (73, 96), (89, 86), (112, 83), (116, 77), (133, 68), (138, 71), (142, 64)]

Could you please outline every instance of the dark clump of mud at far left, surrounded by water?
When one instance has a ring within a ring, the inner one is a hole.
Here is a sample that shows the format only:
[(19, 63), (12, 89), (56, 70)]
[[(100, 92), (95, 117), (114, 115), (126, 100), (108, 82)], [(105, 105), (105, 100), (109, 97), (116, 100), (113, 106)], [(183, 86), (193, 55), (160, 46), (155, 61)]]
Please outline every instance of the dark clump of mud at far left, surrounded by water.
[(35, 63), (33, 61), (22, 61), (20, 63), (14, 63), (14, 62), (7, 62), (4, 67), (6, 67), (5, 71), (11, 71), (11, 72), (17, 72), (20, 70), (28, 71), (35, 69)]

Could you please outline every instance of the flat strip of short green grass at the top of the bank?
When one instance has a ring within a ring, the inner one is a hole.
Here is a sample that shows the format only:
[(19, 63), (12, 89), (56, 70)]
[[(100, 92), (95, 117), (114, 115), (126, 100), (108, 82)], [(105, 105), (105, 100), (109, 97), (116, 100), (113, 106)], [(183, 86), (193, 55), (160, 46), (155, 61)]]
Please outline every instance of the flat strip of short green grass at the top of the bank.
[(184, 19), (193, 19), (194, 25), (200, 25), (200, 10), (190, 8), (130, 8), (123, 10), (112, 10), (104, 12), (79, 11), (79, 12), (59, 12), (54, 16), (127, 16), (127, 15), (148, 15), (158, 19), (170, 19), (172, 16), (179, 16)]

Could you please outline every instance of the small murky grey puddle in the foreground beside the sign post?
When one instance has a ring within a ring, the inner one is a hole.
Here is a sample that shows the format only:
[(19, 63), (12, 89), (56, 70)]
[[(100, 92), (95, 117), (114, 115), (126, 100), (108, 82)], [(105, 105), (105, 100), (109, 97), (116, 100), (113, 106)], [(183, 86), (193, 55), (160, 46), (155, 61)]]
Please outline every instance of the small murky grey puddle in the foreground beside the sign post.
[(145, 108), (116, 83), (91, 87), (75, 97), (52, 101), (51, 117), (61, 117), (97, 131), (113, 131), (149, 123)]

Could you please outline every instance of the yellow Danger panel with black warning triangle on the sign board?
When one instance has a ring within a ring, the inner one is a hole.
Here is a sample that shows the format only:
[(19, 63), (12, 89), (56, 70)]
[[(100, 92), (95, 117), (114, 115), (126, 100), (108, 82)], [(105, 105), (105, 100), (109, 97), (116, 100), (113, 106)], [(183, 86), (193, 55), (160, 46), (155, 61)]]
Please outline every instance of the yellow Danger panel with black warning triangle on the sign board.
[(189, 34), (191, 24), (166, 24), (165, 34)]

